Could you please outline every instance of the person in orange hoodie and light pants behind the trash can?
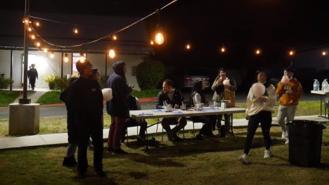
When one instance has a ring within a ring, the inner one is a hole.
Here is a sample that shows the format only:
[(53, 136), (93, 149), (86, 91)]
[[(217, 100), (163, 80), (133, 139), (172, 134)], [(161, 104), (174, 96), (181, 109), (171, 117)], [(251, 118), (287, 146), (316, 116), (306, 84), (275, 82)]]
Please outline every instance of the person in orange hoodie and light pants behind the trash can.
[(279, 82), (278, 88), (276, 88), (276, 95), (280, 98), (280, 106), (278, 108), (278, 122), (282, 129), (282, 138), (286, 140), (286, 144), (289, 143), (288, 127), (284, 121), (287, 117), (287, 122), (293, 121), (295, 118), (295, 112), (297, 105), (304, 94), (302, 85), (297, 79), (293, 78), (294, 69), (292, 66), (284, 69), (284, 75), (287, 75), (289, 82), (284, 84)]

